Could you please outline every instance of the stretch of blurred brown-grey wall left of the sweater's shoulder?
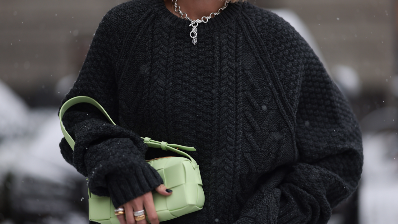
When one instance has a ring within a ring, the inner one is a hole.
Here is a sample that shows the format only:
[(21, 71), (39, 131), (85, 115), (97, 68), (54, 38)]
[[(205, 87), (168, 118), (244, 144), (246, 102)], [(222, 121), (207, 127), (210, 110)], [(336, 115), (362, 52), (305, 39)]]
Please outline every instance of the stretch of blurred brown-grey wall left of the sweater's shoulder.
[(1, 0), (0, 79), (31, 106), (59, 104), (102, 16), (122, 2)]

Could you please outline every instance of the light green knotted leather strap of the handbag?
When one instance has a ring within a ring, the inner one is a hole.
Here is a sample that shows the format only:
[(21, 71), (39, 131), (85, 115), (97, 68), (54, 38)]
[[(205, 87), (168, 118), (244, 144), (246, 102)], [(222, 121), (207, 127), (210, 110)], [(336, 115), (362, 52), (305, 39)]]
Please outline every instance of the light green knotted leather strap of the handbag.
[[(64, 116), (64, 113), (66, 112), (66, 110), (68, 110), (71, 106), (73, 106), (75, 104), (78, 104), (78, 103), (89, 103), (89, 104), (94, 105), (96, 108), (98, 108), (102, 112), (103, 115), (105, 115), (105, 117), (109, 120), (109, 122), (111, 122), (113, 125), (116, 125), (115, 122), (113, 122), (113, 120), (109, 116), (109, 114), (101, 106), (101, 104), (99, 104), (93, 98), (88, 97), (88, 96), (76, 96), (76, 97), (73, 97), (73, 98), (69, 99), (68, 101), (66, 101), (61, 106), (61, 109), (59, 110), (59, 122), (61, 124), (62, 134), (64, 135), (66, 141), (68, 142), (68, 144), (70, 145), (72, 150), (74, 150), (75, 142), (72, 139), (72, 137), (70, 137), (69, 133), (66, 132), (66, 129), (65, 129), (64, 125), (62, 124), (62, 117)], [(142, 137), (140, 137), (140, 138), (142, 138)], [(167, 143), (165, 141), (154, 141), (154, 140), (152, 140), (150, 138), (142, 138), (142, 140), (144, 140), (144, 143), (146, 143), (146, 145), (148, 145), (148, 147), (163, 149), (165, 151), (170, 150), (170, 151), (173, 151), (175, 153), (178, 153), (179, 155), (183, 155), (185, 157), (188, 157), (189, 159), (191, 159), (191, 161), (192, 161), (192, 163), (193, 163), (195, 168), (199, 167), (197, 165), (195, 159), (193, 159), (187, 153), (178, 150), (178, 149), (182, 149), (182, 150), (185, 150), (185, 151), (196, 151), (196, 149), (194, 147), (187, 147), (187, 146), (183, 146), (183, 145), (169, 144), (169, 143)]]

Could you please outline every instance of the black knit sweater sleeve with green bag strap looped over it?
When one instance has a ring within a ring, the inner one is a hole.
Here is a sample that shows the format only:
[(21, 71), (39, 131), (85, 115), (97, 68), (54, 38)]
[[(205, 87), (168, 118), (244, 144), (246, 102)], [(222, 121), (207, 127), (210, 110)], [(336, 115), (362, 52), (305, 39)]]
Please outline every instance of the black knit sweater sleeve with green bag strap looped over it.
[[(115, 69), (129, 24), (117, 20), (117, 9), (109, 11), (94, 35), (86, 60), (73, 88), (62, 100), (90, 96), (97, 100), (118, 124), (118, 95)], [(156, 170), (144, 160), (147, 149), (138, 134), (110, 124), (90, 104), (76, 104), (66, 111), (63, 124), (74, 141), (74, 151), (63, 138), (63, 157), (89, 178), (90, 191), (110, 196), (115, 207), (162, 184)]]

